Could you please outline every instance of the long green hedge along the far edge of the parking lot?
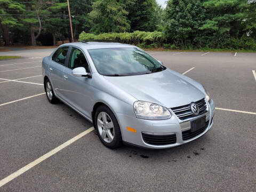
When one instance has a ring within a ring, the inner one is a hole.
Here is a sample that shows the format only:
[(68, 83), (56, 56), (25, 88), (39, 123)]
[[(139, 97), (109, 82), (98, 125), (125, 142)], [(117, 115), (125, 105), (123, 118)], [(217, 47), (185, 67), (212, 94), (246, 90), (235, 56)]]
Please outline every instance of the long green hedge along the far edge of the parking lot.
[(165, 34), (159, 31), (145, 32), (134, 31), (133, 33), (103, 33), (99, 35), (81, 33), (79, 41), (114, 41), (120, 43), (127, 43), (137, 45), (142, 48), (157, 48), (163, 47), (164, 49), (226, 49), (226, 50), (245, 50), (256, 51), (256, 40), (243, 36), (241, 38), (199, 38), (194, 39), (194, 42), (187, 42), (181, 44), (181, 41), (170, 42)]

